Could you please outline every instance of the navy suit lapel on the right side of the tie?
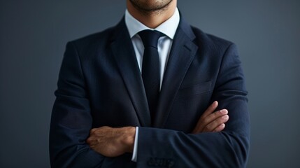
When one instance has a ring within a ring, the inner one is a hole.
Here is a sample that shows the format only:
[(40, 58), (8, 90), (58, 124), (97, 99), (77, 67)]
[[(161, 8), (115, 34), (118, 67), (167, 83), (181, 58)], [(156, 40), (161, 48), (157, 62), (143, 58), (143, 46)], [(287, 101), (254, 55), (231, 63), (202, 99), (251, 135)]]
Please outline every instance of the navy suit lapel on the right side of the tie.
[(164, 73), (154, 127), (164, 127), (166, 123), (185, 73), (190, 67), (198, 49), (197, 45), (192, 42), (194, 37), (190, 25), (181, 19), (173, 39), (168, 64)]

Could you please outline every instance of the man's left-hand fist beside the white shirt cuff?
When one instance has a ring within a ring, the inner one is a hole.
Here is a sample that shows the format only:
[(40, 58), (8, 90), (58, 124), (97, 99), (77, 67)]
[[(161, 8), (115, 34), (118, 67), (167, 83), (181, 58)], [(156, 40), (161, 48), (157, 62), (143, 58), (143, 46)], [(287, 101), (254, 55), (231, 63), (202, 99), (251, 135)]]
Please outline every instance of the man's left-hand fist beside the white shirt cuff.
[(94, 151), (106, 157), (116, 157), (124, 153), (132, 153), (136, 127), (99, 127), (90, 131), (87, 144)]

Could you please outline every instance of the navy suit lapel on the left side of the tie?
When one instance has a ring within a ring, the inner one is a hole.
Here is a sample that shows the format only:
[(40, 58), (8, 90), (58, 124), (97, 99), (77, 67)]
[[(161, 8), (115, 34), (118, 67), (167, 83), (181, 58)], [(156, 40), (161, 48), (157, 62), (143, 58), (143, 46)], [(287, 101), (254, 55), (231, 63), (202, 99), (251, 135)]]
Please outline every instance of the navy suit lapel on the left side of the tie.
[(141, 71), (136, 62), (136, 55), (124, 19), (117, 25), (111, 43), (113, 57), (117, 62), (122, 78), (136, 109), (141, 126), (151, 125), (150, 112), (141, 78)]

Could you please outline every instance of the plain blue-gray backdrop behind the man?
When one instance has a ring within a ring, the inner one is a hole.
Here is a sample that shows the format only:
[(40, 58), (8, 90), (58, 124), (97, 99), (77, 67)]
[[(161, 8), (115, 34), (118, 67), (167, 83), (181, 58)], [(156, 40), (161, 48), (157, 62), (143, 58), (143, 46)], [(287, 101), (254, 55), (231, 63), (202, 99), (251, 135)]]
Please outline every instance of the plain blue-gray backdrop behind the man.
[[(300, 167), (300, 1), (183, 1), (183, 17), (238, 45), (248, 167)], [(48, 130), (67, 41), (115, 25), (124, 1), (0, 1), (0, 167), (50, 167)], [(224, 156), (226, 157), (226, 156)]]

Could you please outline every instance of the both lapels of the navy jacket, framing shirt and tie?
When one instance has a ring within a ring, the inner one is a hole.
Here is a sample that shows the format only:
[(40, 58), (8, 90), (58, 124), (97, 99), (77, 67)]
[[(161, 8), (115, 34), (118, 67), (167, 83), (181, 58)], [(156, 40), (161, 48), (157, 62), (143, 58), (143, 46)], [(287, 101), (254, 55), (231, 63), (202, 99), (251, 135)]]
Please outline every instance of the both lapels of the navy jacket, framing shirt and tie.
[(162, 90), (159, 94), (157, 116), (155, 123), (151, 125), (150, 111), (143, 87), (141, 71), (138, 68), (136, 55), (124, 18), (115, 27), (110, 47), (124, 83), (127, 86), (141, 126), (164, 127), (185, 73), (197, 52), (198, 47), (193, 43), (194, 38), (195, 36), (190, 25), (183, 18), (180, 18), (164, 73)]

